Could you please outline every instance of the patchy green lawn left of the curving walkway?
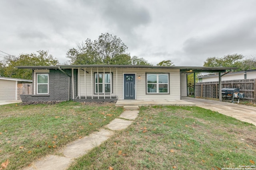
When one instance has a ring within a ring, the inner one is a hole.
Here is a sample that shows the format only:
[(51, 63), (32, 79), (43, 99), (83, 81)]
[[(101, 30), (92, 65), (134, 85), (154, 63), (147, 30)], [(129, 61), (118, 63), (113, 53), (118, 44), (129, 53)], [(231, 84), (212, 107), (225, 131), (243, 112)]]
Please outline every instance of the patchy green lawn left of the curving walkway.
[[(0, 106), (0, 164), (21, 169), (66, 144), (98, 131), (122, 113), (114, 104), (60, 102)], [(108, 114), (108, 115), (107, 115)]]

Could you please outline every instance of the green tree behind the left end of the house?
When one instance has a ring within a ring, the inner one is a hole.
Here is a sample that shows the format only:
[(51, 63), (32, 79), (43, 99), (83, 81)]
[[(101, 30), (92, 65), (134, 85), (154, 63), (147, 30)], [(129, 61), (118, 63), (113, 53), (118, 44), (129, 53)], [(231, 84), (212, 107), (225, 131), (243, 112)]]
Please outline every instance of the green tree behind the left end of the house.
[(7, 56), (4, 58), (5, 77), (32, 79), (31, 69), (17, 69), (15, 66), (50, 66), (57, 65), (58, 59), (48, 54), (48, 51), (37, 51), (38, 54), (21, 54), (19, 57)]

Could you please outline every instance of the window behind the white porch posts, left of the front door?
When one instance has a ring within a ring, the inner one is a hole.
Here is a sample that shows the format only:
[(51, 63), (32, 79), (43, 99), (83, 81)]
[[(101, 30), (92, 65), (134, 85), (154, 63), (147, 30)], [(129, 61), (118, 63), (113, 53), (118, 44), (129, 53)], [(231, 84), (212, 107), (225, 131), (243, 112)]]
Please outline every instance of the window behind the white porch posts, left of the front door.
[[(111, 73), (112, 76), (112, 73)], [(111, 91), (111, 83), (110, 73), (94, 73), (95, 77), (95, 93), (110, 93)], [(99, 92), (98, 92), (99, 90)]]

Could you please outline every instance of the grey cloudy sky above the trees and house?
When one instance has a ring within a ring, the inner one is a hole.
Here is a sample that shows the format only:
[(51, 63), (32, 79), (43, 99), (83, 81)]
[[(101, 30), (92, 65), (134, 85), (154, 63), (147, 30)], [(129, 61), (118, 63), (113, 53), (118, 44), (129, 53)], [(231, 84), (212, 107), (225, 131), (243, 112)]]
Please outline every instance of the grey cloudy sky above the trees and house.
[(68, 49), (107, 32), (154, 65), (256, 56), (255, 0), (1, 0), (0, 21), (0, 51), (48, 50), (61, 64)]

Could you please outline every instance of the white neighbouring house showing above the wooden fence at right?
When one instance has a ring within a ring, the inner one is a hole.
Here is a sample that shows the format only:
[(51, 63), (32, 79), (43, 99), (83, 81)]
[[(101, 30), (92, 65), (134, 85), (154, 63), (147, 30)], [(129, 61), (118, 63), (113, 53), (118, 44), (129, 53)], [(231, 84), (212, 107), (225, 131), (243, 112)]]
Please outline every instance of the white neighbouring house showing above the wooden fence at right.
[[(256, 70), (246, 70), (238, 72), (230, 72), (222, 76), (222, 80), (241, 80), (256, 78)], [(214, 82), (218, 81), (218, 73), (198, 76), (198, 82)]]

